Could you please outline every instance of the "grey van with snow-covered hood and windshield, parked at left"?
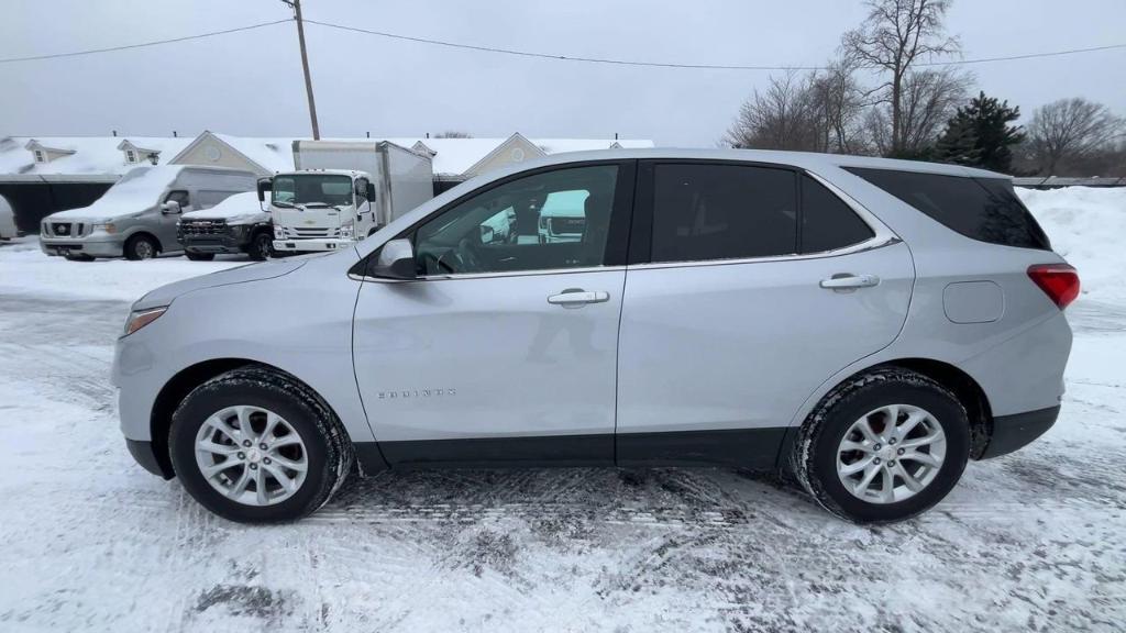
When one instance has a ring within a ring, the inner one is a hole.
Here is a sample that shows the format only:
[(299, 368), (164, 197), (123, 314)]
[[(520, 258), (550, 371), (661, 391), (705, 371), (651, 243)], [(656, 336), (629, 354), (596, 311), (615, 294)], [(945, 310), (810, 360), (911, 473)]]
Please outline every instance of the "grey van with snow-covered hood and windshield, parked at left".
[(220, 167), (136, 167), (90, 206), (43, 220), (39, 248), (69, 259), (150, 259), (180, 250), (180, 214), (211, 208), (240, 191), (253, 191), (249, 171)]

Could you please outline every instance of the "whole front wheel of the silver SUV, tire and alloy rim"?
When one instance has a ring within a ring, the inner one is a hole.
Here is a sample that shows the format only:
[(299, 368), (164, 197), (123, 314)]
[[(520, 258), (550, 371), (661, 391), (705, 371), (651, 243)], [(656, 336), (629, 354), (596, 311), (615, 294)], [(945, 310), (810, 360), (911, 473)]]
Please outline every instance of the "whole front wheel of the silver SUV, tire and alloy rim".
[(172, 416), (172, 466), (200, 505), (240, 523), (300, 519), (354, 461), (339, 420), (292, 376), (247, 367), (196, 387)]

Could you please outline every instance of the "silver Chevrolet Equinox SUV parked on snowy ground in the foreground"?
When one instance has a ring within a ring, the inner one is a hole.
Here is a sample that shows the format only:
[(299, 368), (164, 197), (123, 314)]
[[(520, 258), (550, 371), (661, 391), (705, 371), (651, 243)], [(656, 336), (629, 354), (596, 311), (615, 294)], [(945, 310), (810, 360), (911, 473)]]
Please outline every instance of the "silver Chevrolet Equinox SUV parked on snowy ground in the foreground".
[[(556, 194), (577, 239), (491, 239)], [(354, 465), (779, 469), (888, 521), (1054, 424), (1078, 292), (998, 173), (563, 154), (149, 293), (114, 382), (136, 461), (240, 521), (305, 516)]]

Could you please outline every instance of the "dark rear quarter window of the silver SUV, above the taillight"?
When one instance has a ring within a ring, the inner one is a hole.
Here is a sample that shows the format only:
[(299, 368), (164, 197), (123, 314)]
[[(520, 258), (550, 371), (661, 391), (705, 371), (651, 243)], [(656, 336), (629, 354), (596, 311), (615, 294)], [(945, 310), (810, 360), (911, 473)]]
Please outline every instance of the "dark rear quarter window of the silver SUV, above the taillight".
[(1006, 179), (886, 169), (848, 171), (967, 238), (1010, 247), (1052, 248)]

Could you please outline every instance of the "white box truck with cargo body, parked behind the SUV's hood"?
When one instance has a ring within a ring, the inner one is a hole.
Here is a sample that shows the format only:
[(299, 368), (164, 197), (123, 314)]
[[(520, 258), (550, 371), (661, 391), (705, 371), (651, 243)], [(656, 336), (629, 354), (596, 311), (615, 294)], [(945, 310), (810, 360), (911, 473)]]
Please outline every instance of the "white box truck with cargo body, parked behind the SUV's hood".
[(274, 248), (351, 247), (434, 197), (430, 157), (386, 141), (294, 141), (297, 171), (259, 182), (272, 194)]

